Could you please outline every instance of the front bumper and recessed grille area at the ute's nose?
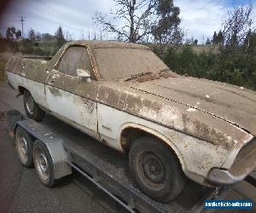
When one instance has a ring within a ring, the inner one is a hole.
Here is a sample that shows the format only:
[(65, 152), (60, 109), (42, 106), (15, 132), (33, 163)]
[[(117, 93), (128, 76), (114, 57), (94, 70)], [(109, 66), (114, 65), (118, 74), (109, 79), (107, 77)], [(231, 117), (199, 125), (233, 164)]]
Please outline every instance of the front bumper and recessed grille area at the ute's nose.
[(241, 149), (230, 170), (213, 168), (207, 182), (217, 185), (235, 184), (244, 180), (256, 168), (256, 141), (253, 140)]

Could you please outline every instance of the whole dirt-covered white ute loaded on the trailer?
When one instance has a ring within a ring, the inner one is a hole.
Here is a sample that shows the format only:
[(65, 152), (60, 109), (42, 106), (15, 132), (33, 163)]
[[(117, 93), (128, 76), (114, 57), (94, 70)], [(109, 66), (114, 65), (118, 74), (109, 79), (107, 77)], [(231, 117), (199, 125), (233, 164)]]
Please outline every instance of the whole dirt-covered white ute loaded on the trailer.
[(177, 75), (140, 44), (65, 44), (49, 60), (12, 57), (9, 84), (29, 118), (49, 112), (120, 152), (150, 198), (177, 197), (184, 176), (207, 186), (256, 166), (256, 94)]

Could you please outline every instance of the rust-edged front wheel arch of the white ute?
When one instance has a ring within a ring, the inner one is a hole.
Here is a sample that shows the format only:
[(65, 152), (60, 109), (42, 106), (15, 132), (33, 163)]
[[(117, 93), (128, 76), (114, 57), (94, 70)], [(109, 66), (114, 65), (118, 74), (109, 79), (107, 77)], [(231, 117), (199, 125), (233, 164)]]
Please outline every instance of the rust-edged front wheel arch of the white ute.
[[(175, 144), (168, 139), (165, 135), (162, 135), (159, 131), (153, 130), (141, 124), (125, 124), (119, 130), (119, 144), (124, 152), (129, 152), (132, 142), (139, 136), (149, 135), (162, 141), (167, 148), (170, 149), (177, 157), (179, 164), (181, 164), (183, 171), (187, 170), (183, 157)], [(186, 172), (185, 172), (186, 173)]]

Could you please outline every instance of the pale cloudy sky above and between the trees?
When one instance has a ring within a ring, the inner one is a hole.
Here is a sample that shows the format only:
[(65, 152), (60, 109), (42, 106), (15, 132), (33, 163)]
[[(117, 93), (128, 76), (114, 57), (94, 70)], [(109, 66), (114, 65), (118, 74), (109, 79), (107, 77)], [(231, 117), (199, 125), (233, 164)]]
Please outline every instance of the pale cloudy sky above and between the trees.
[[(247, 1), (237, 0), (236, 5), (239, 3), (245, 4)], [(256, 0), (252, 0), (252, 3), (256, 8)], [(181, 10), (181, 26), (188, 37), (195, 37), (203, 42), (220, 29), (227, 11), (234, 5), (234, 0), (174, 0), (174, 4)], [(24, 14), (25, 35), (31, 27), (36, 32), (54, 34), (57, 27), (62, 26), (63, 31), (69, 32), (73, 39), (82, 39), (83, 35), (84, 39), (88, 39), (89, 32), (90, 35), (99, 33), (92, 21), (93, 14), (96, 10), (108, 13), (110, 8), (113, 8), (113, 0), (12, 1), (1, 12), (0, 31), (5, 35), (8, 26), (21, 29), (20, 14)], [(253, 9), (253, 15), (256, 16), (256, 9)]]

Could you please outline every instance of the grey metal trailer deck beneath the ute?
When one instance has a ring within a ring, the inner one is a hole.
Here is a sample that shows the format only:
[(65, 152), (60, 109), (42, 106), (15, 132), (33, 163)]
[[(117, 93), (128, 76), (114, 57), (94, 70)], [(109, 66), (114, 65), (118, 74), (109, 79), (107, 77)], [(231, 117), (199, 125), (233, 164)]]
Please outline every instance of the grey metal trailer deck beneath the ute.
[[(7, 118), (9, 135), (15, 125), (40, 141), (60, 141), (67, 151), (67, 164), (94, 182), (110, 197), (131, 212), (201, 212), (206, 199), (214, 199), (214, 188), (204, 188), (188, 181), (183, 192), (169, 204), (160, 204), (141, 193), (129, 175), (128, 156), (90, 138), (71, 126), (52, 118), (43, 123), (16, 114)], [(228, 189), (218, 191), (223, 199)]]

